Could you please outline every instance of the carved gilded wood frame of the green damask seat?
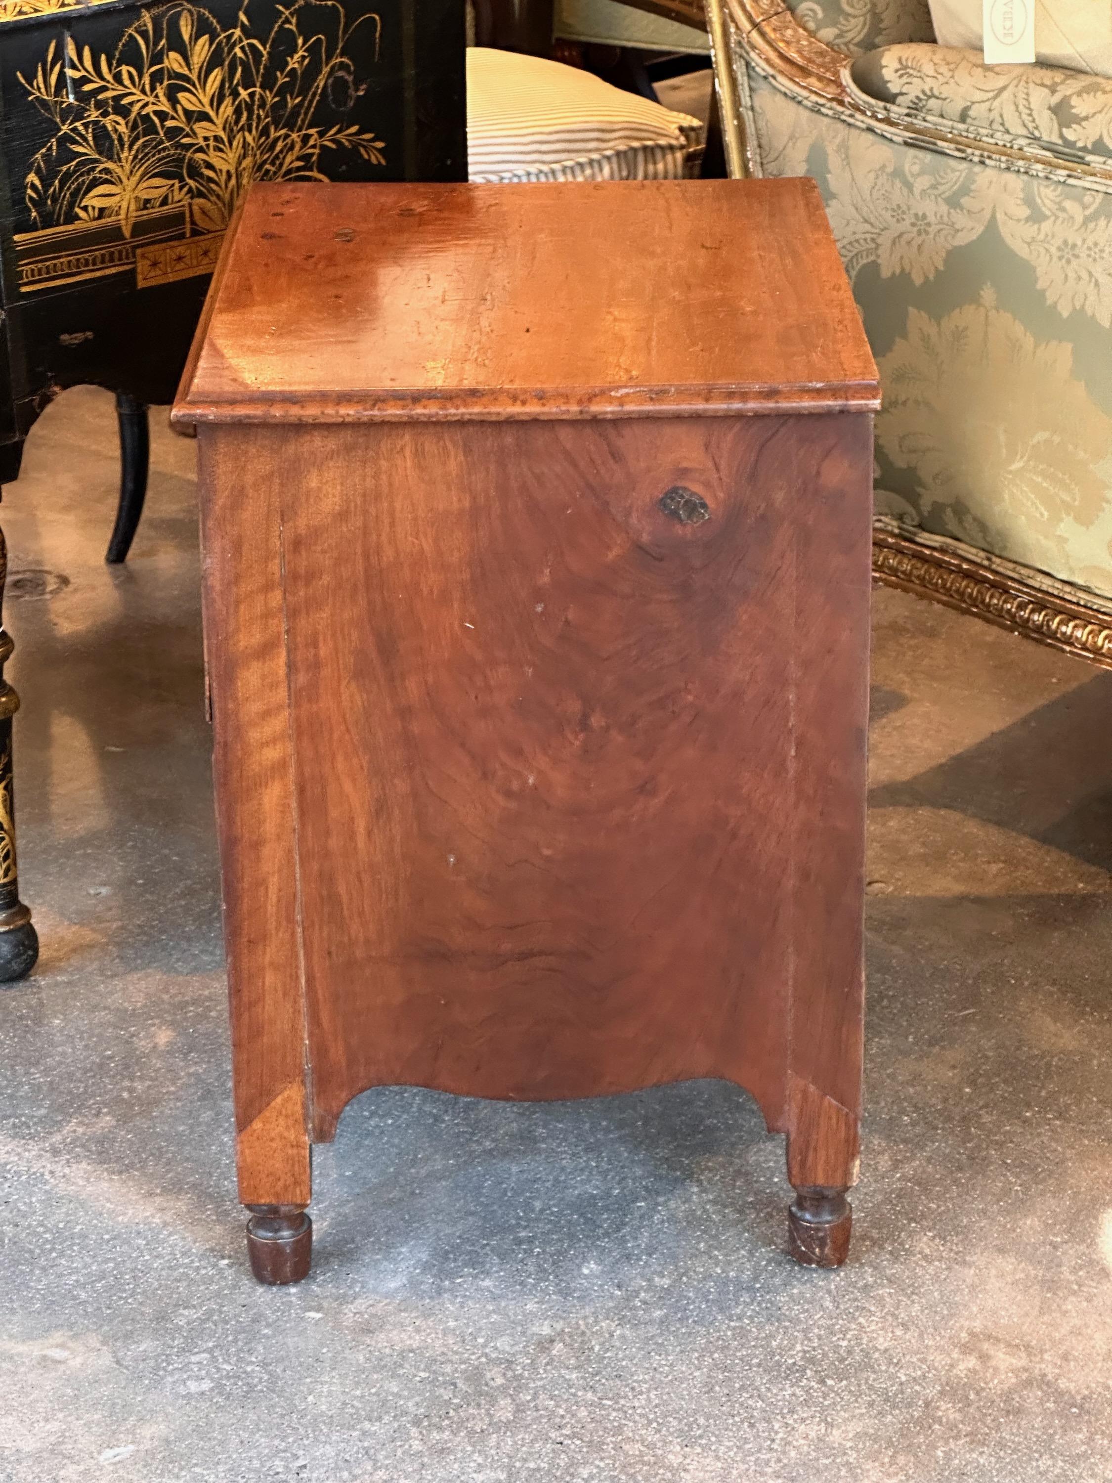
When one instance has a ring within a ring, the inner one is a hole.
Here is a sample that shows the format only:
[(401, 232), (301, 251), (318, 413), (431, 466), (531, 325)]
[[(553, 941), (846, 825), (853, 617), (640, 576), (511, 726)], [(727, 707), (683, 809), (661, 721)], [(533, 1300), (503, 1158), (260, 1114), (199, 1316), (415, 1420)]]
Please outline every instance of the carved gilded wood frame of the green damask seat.
[[(756, 131), (746, 67), (738, 65), (744, 61), (815, 113), (896, 144), (1112, 193), (1112, 168), (1072, 162), (1063, 166), (1032, 141), (1025, 141), (1023, 148), (992, 144), (964, 133), (959, 126), (897, 117), (882, 104), (872, 104), (850, 80), (851, 59), (804, 30), (783, 0), (706, 0), (706, 4), (732, 175), (761, 172), (750, 148)], [(875, 526), (873, 574), (888, 586), (1112, 667), (1112, 602), (1097, 593), (955, 538), (910, 531), (885, 516), (878, 516)]]

